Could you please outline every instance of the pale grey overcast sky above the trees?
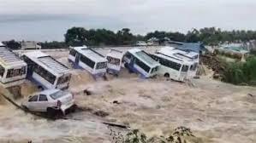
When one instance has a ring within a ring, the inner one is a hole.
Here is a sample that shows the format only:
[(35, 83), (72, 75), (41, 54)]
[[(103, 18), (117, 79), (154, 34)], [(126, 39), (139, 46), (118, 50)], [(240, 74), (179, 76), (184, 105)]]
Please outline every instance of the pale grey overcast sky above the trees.
[(63, 40), (72, 26), (134, 33), (256, 30), (256, 0), (0, 0), (0, 41)]

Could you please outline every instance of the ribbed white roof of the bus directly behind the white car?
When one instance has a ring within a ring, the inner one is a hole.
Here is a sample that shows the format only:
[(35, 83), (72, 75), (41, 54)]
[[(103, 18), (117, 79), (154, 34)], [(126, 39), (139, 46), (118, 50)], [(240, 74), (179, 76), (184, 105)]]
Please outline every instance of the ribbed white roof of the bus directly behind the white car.
[(25, 53), (25, 55), (34, 62), (38, 63), (40, 66), (46, 66), (48, 69), (51, 70), (51, 72), (55, 72), (57, 74), (69, 72), (67, 66), (64, 66), (61, 62), (55, 60), (50, 55), (45, 54), (41, 51), (28, 52)]

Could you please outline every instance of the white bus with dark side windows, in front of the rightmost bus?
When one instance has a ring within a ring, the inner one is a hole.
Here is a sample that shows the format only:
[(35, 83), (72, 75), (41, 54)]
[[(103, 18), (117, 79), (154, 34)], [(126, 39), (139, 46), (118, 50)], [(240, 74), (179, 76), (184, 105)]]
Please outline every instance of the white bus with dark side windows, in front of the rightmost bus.
[(158, 70), (159, 75), (181, 82), (187, 79), (191, 62), (162, 53), (152, 54), (152, 58), (161, 64)]

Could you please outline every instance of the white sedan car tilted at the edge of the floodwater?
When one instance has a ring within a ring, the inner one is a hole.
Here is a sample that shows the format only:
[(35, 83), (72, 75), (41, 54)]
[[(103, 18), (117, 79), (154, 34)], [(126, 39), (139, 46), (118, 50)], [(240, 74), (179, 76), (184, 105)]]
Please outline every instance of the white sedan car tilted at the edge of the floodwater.
[(33, 112), (47, 112), (50, 114), (73, 109), (74, 96), (60, 89), (48, 89), (29, 96), (28, 100), (21, 104), (24, 108)]

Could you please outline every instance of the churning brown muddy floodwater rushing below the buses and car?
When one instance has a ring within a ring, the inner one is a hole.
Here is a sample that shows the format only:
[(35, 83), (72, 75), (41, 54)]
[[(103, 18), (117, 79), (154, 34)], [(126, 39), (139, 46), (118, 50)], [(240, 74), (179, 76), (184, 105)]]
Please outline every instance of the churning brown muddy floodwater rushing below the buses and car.
[[(66, 56), (67, 51), (51, 54), (68, 65), (60, 55)], [(148, 137), (168, 135), (176, 127), (185, 126), (196, 136), (189, 140), (194, 143), (256, 142), (253, 87), (221, 83), (210, 77), (193, 79), (192, 83), (162, 77), (141, 79), (126, 70), (119, 77), (108, 76), (108, 81), (95, 81), (80, 70), (72, 73), (69, 91), (74, 93), (77, 105), (88, 111), (51, 121), (17, 110), (1, 99), (0, 142), (112, 142), (104, 121), (140, 129)], [(92, 94), (86, 95), (84, 89), (92, 89)], [(96, 116), (98, 111), (107, 115)]]

